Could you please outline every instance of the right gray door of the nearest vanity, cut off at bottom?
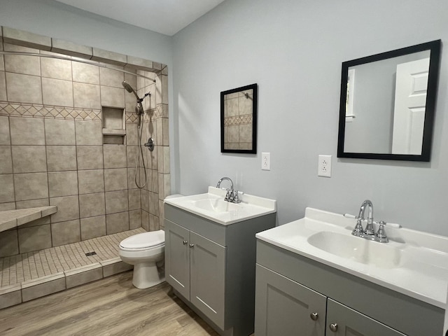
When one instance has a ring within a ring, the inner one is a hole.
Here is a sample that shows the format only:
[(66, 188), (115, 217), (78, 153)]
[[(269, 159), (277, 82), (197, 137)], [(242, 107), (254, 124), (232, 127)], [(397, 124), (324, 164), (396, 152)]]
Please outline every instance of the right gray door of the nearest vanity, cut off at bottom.
[[(366, 297), (365, 300), (369, 299)], [(330, 325), (333, 330), (330, 329)], [(330, 298), (328, 298), (327, 305), (326, 332), (327, 336), (405, 336), (405, 334)]]

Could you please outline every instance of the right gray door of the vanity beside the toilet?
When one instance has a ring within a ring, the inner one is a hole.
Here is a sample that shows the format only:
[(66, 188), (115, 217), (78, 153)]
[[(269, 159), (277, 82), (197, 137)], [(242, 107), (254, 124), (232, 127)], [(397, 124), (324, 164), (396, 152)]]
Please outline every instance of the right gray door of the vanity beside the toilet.
[(190, 302), (225, 329), (226, 248), (190, 231)]

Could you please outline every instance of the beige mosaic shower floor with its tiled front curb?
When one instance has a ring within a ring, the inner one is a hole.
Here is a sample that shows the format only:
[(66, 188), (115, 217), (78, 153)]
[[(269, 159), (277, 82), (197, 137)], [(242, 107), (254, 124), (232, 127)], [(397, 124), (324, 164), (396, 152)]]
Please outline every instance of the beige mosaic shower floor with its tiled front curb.
[(0, 258), (0, 309), (127, 269), (118, 255), (123, 239), (143, 228)]

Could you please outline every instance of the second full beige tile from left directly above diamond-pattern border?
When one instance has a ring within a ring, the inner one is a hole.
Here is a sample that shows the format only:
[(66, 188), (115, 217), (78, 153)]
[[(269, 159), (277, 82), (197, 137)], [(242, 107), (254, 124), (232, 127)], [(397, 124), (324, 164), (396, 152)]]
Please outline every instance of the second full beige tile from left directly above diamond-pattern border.
[(43, 104), (73, 107), (73, 83), (71, 80), (42, 78)]

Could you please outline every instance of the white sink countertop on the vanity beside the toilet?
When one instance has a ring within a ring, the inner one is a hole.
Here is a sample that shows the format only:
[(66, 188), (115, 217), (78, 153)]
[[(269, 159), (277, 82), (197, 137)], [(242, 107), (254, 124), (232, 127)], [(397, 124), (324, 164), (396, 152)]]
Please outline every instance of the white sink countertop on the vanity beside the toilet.
[[(164, 202), (221, 225), (230, 225), (276, 212), (275, 200), (243, 193), (240, 194), (241, 203), (233, 204), (224, 201), (225, 194), (226, 190), (209, 187), (208, 193), (166, 198)], [(210, 207), (199, 207), (201, 202), (209, 204)], [(214, 204), (216, 204), (216, 210), (214, 210)], [(228, 206), (228, 210), (223, 211), (221, 206)]]

